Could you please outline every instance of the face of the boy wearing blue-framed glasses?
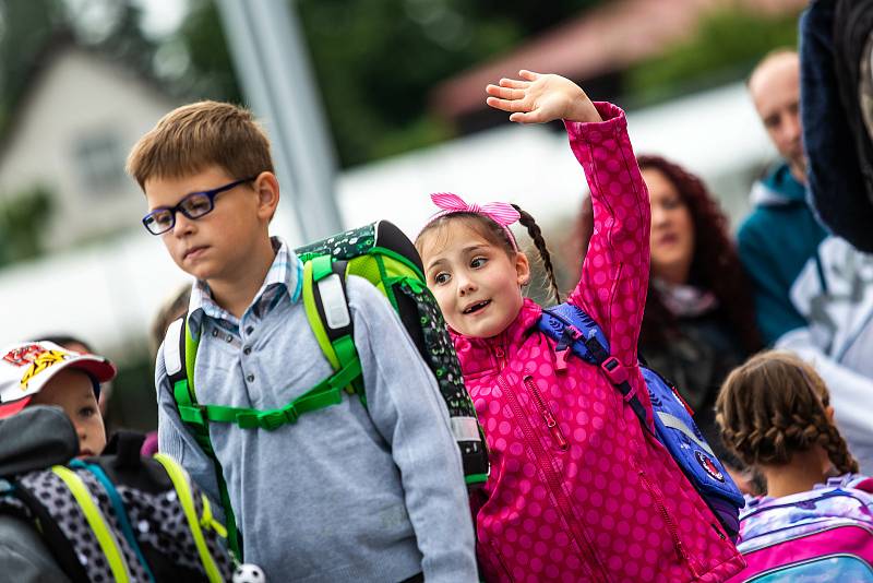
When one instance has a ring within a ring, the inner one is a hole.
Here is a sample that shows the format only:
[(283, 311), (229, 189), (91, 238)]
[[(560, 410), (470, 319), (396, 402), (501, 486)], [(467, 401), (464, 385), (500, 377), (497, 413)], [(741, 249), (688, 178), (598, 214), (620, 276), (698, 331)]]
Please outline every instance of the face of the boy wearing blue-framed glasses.
[[(150, 178), (145, 181), (148, 210), (175, 206), (187, 194), (222, 187), (239, 177), (217, 166), (182, 178)], [(256, 183), (256, 182), (255, 182)], [(246, 182), (215, 198), (208, 214), (191, 219), (176, 213), (176, 225), (162, 240), (179, 267), (203, 281), (236, 281), (261, 239), (275, 205), (265, 211), (252, 182)]]

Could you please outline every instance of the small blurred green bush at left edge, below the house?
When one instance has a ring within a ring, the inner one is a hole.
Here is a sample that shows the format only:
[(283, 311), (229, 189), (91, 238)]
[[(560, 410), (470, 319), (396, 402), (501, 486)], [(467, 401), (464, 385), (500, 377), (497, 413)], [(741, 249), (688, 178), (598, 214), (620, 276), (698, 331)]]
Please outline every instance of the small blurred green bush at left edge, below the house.
[(55, 210), (51, 192), (36, 186), (0, 200), (0, 265), (41, 254), (40, 227)]

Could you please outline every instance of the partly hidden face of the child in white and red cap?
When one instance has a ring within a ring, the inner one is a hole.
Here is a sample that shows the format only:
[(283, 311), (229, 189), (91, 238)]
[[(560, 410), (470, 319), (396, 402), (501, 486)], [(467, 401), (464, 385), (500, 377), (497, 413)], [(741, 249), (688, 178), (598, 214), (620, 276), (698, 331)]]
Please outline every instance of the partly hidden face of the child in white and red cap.
[(91, 377), (81, 370), (58, 372), (34, 395), (32, 405), (56, 405), (73, 421), (79, 436), (79, 456), (99, 455), (106, 448), (106, 429), (94, 396)]

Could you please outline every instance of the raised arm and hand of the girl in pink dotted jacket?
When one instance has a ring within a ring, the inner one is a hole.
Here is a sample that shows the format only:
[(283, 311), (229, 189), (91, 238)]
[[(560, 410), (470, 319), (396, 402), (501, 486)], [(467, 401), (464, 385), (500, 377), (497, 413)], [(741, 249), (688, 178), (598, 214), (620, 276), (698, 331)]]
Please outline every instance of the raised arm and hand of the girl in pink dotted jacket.
[(519, 123), (564, 120), (594, 205), (594, 234), (582, 277), (567, 299), (600, 324), (612, 354), (634, 366), (648, 285), (650, 212), (624, 111), (591, 103), (578, 85), (560, 75), (521, 71), (519, 76), (488, 85), (487, 103), (511, 112), (510, 120)]

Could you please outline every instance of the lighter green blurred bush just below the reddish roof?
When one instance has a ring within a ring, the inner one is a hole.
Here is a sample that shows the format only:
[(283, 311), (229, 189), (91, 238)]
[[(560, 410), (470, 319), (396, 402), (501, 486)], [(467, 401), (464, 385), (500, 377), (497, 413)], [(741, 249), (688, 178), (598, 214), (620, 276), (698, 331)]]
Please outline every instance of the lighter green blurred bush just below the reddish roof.
[(745, 76), (755, 62), (798, 41), (798, 15), (761, 16), (740, 9), (706, 17), (687, 41), (632, 67), (626, 90), (643, 103)]

